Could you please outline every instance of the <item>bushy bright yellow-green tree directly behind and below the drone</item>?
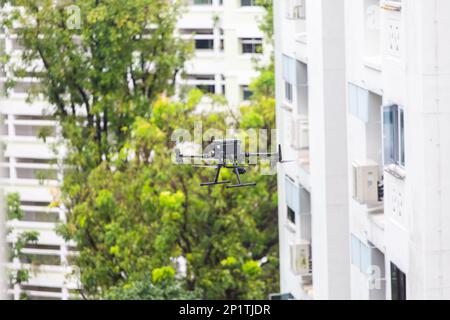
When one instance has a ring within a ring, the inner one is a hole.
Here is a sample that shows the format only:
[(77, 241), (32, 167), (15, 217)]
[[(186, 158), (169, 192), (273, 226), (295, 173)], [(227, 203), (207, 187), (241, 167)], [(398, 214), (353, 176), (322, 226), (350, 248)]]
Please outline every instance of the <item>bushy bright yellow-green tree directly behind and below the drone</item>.
[(180, 284), (204, 298), (261, 299), (276, 290), (276, 179), (254, 172), (254, 189), (202, 188), (212, 171), (171, 161), (174, 130), (193, 131), (197, 121), (229, 127), (228, 114), (194, 112), (201, 97), (193, 91), (185, 100), (158, 100), (151, 117), (136, 120), (121, 157), (67, 194), (84, 199), (61, 232), (79, 245), (76, 263), (88, 295), (128, 287), (149, 270), (178, 269), (177, 257), (187, 264)]

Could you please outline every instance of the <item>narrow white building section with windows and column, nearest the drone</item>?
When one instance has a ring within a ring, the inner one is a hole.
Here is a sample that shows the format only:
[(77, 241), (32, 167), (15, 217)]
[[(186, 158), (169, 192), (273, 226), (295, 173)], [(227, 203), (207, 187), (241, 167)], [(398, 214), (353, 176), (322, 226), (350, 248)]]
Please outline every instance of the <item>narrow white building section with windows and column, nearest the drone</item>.
[(276, 1), (281, 292), (350, 297), (344, 1)]

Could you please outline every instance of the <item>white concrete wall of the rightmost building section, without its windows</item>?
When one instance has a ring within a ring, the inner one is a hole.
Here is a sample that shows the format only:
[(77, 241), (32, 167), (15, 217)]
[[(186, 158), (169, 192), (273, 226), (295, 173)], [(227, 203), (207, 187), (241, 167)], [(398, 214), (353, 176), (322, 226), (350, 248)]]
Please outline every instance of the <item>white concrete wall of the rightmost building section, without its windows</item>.
[[(351, 232), (365, 243), (376, 242), (384, 253), (387, 299), (392, 298), (391, 262), (406, 274), (408, 299), (448, 299), (449, 172), (444, 163), (450, 147), (450, 3), (406, 0), (400, 11), (379, 9), (376, 59), (365, 51), (366, 23), (373, 13), (368, 4), (372, 3), (346, 1), (347, 78), (382, 96), (383, 105), (403, 107), (406, 166), (401, 169), (403, 178), (384, 170), (364, 146), (379, 143), (382, 135), (363, 138), (367, 126), (348, 115), (349, 159), (372, 158), (384, 176), (384, 214), (368, 213), (366, 206), (350, 199)], [(352, 298), (370, 298), (367, 281), (352, 271)]]

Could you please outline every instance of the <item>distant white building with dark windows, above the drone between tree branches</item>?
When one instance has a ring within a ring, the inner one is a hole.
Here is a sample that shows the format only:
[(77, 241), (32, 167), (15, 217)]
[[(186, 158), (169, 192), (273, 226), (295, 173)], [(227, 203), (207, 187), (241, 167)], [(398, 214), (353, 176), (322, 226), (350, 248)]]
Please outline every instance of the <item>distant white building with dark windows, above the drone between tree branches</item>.
[(264, 9), (255, 0), (190, 0), (178, 23), (181, 36), (194, 38), (196, 54), (179, 83), (223, 94), (231, 106), (251, 95), (255, 62), (268, 62), (272, 48), (259, 29)]

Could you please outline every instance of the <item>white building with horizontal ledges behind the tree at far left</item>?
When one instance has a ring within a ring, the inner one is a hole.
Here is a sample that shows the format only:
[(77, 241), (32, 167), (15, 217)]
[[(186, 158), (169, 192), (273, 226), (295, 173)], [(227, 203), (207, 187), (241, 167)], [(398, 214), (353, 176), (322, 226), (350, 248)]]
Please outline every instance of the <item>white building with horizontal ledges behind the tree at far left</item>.
[[(14, 59), (19, 57), (22, 48), (16, 37), (6, 35), (2, 30), (0, 49), (6, 50)], [(7, 76), (7, 70), (2, 68), (0, 86)], [(28, 270), (30, 281), (10, 286), (8, 298), (17, 300), (26, 292), (30, 299), (68, 299), (70, 290), (76, 289), (76, 282), (70, 276), (73, 270), (68, 263), (68, 257), (75, 252), (75, 245), (56, 235), (55, 226), (65, 221), (65, 212), (61, 207), (51, 206), (58, 200), (58, 184), (62, 179), (56, 154), (63, 150), (55, 149), (58, 128), (45, 115), (48, 110), (46, 104), (26, 102), (33, 82), (33, 78), (25, 78), (16, 83), (8, 98), (0, 97), (0, 112), (4, 120), (0, 131), (4, 144), (0, 183), (4, 198), (13, 193), (20, 195), (23, 211), (21, 221), (7, 223), (11, 230), (7, 242), (13, 245), (24, 232), (39, 234), (36, 244), (29, 244), (22, 250), (22, 259), (15, 258), (9, 263), (8, 268), (12, 272)], [(48, 134), (45, 142), (39, 138), (41, 130)]]

